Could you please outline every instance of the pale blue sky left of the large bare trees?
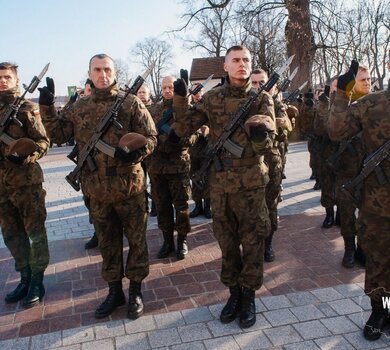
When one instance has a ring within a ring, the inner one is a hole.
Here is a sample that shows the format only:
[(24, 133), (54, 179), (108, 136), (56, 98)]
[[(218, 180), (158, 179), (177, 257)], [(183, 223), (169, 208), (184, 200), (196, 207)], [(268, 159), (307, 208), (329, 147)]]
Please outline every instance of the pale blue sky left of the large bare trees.
[(20, 80), (27, 84), (50, 62), (47, 76), (54, 78), (56, 94), (66, 95), (67, 86), (84, 80), (88, 61), (97, 53), (124, 60), (138, 75), (130, 49), (143, 38), (158, 37), (174, 45), (178, 73), (190, 69), (192, 57), (200, 57), (164, 34), (178, 27), (182, 13), (177, 0), (2, 1), (0, 62), (17, 63)]

